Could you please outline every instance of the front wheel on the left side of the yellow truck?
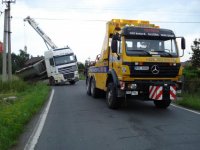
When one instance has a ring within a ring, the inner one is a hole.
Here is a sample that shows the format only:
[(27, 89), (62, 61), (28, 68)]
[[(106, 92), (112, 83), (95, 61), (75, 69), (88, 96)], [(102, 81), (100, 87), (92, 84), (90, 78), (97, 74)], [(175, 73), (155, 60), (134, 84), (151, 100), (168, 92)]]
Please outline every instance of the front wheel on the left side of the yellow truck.
[(117, 92), (113, 83), (108, 84), (106, 92), (106, 103), (111, 109), (117, 109), (121, 105), (121, 102), (117, 99)]

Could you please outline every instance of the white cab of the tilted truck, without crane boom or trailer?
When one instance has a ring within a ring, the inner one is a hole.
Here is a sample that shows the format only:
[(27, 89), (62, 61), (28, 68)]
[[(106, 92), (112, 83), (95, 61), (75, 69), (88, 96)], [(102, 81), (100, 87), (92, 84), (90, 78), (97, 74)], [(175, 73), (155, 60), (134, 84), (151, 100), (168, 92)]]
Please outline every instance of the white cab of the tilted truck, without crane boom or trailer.
[(70, 48), (48, 50), (44, 58), (50, 85), (79, 80), (76, 56)]

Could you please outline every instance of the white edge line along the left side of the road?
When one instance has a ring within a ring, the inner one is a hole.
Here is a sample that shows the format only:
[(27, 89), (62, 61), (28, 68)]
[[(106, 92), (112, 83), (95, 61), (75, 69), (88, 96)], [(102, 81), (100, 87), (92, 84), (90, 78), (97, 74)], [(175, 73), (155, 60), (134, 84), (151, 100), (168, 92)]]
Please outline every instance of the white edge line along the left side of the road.
[(24, 150), (34, 150), (35, 145), (38, 142), (38, 139), (40, 137), (40, 134), (42, 132), (42, 129), (44, 127), (44, 123), (46, 121), (46, 117), (48, 115), (49, 112), (49, 108), (53, 99), (53, 95), (54, 95), (54, 89), (52, 89), (51, 92), (51, 96), (49, 98), (48, 104), (46, 106), (46, 108), (44, 109), (44, 111), (42, 112), (42, 114), (40, 115), (40, 118), (36, 124), (36, 127), (33, 130), (33, 133), (31, 134), (31, 136), (29, 137), (28, 142), (26, 143)]

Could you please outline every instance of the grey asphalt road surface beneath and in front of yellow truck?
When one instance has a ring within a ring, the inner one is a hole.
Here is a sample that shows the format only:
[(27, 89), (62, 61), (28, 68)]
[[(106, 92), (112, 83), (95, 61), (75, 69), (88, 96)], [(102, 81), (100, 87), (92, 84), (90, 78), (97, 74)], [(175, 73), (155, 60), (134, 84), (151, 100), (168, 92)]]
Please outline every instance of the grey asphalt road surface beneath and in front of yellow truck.
[(86, 94), (85, 81), (54, 86), (36, 150), (199, 150), (200, 115), (131, 101), (110, 110)]

